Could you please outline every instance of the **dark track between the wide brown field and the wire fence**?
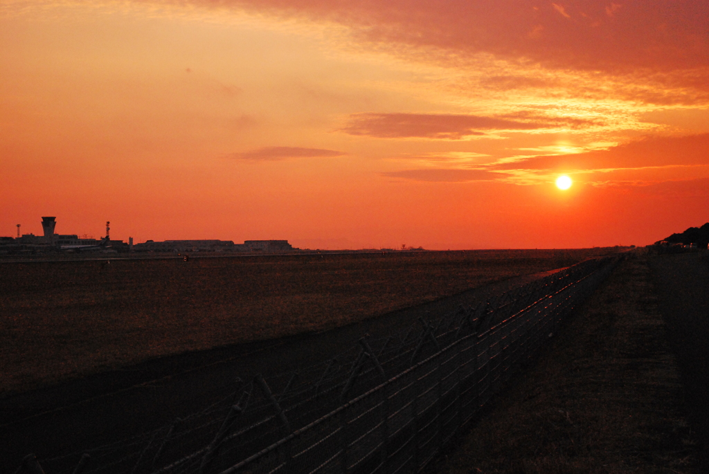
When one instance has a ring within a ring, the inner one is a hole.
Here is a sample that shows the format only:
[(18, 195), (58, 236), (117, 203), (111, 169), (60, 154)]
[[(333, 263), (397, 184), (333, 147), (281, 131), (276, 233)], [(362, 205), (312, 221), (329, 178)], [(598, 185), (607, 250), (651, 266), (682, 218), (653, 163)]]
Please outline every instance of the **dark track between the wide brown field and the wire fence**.
[(237, 377), (268, 376), (328, 359), (367, 332), (409, 327), (428, 312), (452, 312), (548, 273), (553, 272), (512, 278), (329, 332), (167, 357), (0, 400), (0, 472), (13, 472), (28, 453), (41, 461), (169, 424), (232, 393)]

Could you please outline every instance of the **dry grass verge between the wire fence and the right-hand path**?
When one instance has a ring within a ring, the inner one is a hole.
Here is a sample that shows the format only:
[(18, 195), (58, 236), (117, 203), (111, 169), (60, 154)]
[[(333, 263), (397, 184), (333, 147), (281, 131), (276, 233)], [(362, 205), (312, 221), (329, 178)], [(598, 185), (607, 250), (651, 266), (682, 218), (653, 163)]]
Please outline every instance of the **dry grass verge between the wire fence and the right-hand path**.
[(616, 269), (432, 473), (699, 472), (645, 258)]

